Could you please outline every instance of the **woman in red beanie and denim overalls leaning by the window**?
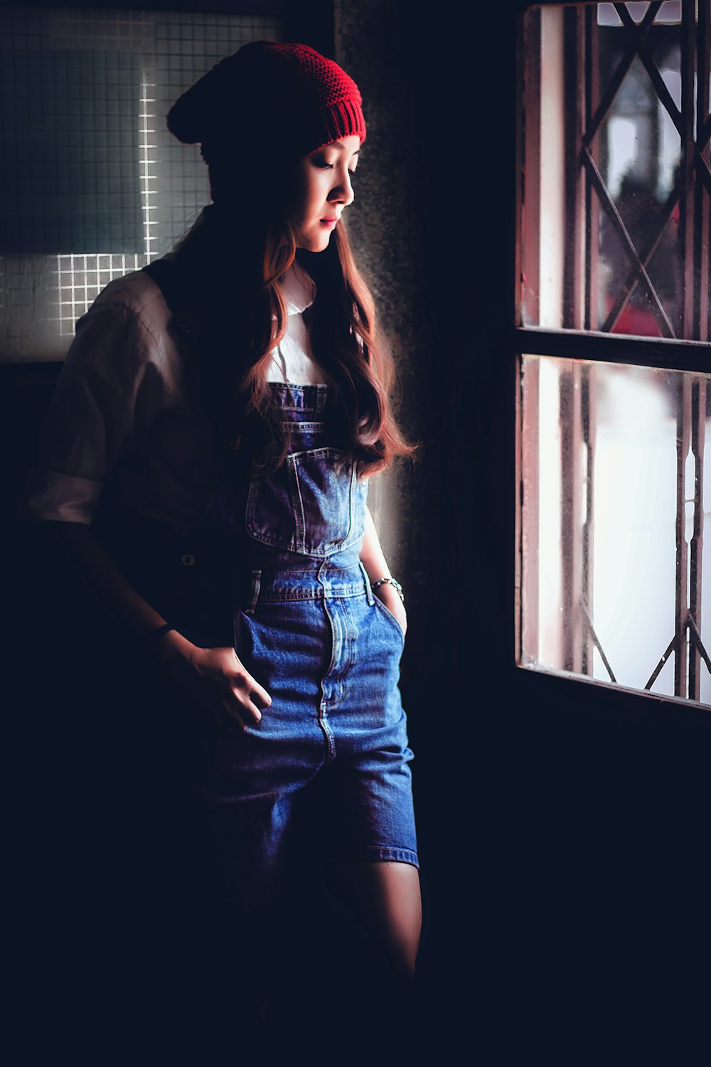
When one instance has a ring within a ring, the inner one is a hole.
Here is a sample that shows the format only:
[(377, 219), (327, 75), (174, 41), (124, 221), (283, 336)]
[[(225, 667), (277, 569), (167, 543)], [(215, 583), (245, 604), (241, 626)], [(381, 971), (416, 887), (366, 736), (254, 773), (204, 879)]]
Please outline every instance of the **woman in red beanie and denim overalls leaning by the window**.
[(313, 793), (329, 885), (411, 976), (406, 617), (366, 495), (413, 449), (343, 227), (360, 94), (312, 49), (258, 42), (168, 126), (200, 144), (213, 203), (79, 321), (26, 509), (189, 697), (228, 899), (278, 895)]

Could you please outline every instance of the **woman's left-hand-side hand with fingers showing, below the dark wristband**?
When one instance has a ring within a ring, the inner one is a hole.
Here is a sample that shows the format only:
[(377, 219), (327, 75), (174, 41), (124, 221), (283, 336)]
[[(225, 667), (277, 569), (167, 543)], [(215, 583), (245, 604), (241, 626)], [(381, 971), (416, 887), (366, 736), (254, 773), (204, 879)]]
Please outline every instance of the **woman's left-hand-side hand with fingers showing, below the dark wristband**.
[(156, 658), (215, 726), (244, 730), (259, 722), (263, 708), (272, 703), (235, 649), (201, 649), (182, 634), (168, 631), (158, 643)]

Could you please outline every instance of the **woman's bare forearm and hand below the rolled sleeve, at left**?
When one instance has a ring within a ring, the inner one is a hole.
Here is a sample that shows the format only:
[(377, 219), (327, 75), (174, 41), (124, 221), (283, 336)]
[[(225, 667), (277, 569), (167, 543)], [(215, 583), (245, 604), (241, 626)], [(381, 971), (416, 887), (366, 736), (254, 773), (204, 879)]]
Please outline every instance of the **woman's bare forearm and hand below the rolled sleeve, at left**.
[[(60, 538), (97, 592), (139, 641), (165, 620), (126, 580), (83, 523), (54, 523)], [(158, 641), (155, 658), (217, 724), (259, 722), (270, 695), (245, 670), (235, 649), (201, 649), (177, 631)]]

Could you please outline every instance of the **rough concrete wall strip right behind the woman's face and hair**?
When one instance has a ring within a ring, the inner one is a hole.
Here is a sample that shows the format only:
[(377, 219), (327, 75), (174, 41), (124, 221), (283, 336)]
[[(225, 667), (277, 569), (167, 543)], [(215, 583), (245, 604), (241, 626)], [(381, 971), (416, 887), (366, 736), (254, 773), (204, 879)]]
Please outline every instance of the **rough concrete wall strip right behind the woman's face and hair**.
[[(431, 362), (425, 303), (421, 204), (410, 93), (411, 41), (401, 5), (383, 0), (337, 0), (335, 59), (357, 81), (368, 139), (349, 211), (353, 244), (381, 310), (399, 370), (402, 421), (411, 437), (423, 435), (423, 382)], [(425, 446), (426, 448), (426, 446)], [(423, 501), (408, 464), (375, 478), (371, 504), (386, 555), (395, 574), (418, 574)], [(415, 550), (415, 551), (413, 551)], [(411, 589), (411, 580), (408, 580)]]

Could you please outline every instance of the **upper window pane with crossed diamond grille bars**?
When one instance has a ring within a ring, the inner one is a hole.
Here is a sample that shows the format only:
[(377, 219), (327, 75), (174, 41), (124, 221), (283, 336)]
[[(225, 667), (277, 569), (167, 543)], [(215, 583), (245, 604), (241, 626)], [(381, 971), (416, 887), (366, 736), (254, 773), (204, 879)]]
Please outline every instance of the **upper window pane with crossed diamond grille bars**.
[(691, 32), (670, 2), (527, 12), (523, 325), (711, 336), (711, 30), (683, 17)]

